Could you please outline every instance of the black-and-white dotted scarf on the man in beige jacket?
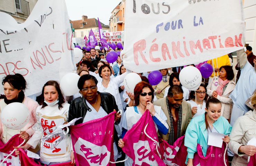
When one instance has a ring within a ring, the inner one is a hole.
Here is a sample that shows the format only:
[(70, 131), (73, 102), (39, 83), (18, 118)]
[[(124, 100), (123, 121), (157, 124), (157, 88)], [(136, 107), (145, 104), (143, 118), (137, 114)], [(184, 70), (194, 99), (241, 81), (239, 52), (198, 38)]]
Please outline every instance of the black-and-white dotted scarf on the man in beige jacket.
[[(171, 129), (171, 132), (169, 134), (169, 137), (168, 137), (168, 144), (169, 145), (173, 145), (173, 143), (175, 142), (174, 140), (174, 129), (173, 129), (173, 116), (172, 116), (172, 112), (169, 108), (169, 105), (168, 105), (168, 97), (166, 97), (166, 104), (167, 104), (167, 109), (168, 109), (168, 113), (169, 113), (169, 117), (170, 117), (170, 129)], [(178, 119), (178, 126), (177, 126), (177, 138), (179, 138), (181, 136), (181, 121), (182, 121), (182, 107), (180, 105), (180, 107), (178, 108), (179, 109), (179, 119)]]

